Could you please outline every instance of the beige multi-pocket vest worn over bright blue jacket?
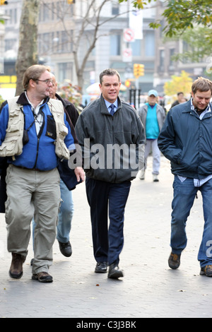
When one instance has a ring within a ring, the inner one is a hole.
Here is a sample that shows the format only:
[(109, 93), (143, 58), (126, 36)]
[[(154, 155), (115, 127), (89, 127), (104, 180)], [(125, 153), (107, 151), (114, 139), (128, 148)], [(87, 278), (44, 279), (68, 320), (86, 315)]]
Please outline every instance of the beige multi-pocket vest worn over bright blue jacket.
[[(23, 105), (17, 104), (18, 97), (8, 100), (8, 126), (4, 142), (0, 146), (0, 157), (12, 157), (23, 152), (24, 113)], [(49, 99), (47, 102), (56, 124), (57, 137), (54, 141), (55, 153), (59, 159), (69, 159), (69, 149), (64, 143), (68, 129), (64, 124), (64, 106), (59, 100)]]

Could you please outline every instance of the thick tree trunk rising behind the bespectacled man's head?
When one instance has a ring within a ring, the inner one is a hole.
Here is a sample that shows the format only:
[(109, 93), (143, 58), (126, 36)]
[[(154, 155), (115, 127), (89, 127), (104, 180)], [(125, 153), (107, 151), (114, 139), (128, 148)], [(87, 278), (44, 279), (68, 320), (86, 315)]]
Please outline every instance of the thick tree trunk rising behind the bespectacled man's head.
[(18, 58), (16, 61), (16, 95), (23, 92), (23, 73), (29, 66), (37, 64), (37, 23), (40, 0), (23, 0), (20, 17)]

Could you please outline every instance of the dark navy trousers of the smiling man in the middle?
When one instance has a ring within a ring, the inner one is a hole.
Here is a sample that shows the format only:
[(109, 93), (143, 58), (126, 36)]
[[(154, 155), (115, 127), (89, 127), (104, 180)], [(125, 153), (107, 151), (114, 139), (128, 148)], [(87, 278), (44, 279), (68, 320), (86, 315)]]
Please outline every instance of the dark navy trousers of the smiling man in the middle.
[(86, 178), (93, 253), (98, 262), (119, 263), (119, 254), (124, 246), (124, 208), (130, 186), (131, 182), (110, 183)]

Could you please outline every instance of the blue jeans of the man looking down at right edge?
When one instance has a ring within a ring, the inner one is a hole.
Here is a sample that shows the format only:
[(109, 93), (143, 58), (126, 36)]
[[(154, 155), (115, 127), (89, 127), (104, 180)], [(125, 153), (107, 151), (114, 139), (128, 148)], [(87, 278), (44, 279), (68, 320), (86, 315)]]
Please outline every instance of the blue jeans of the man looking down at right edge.
[(201, 191), (204, 211), (204, 233), (199, 248), (200, 266), (212, 264), (212, 179), (200, 187), (194, 186), (194, 179), (187, 178), (184, 182), (175, 175), (173, 182), (174, 198), (172, 201), (171, 243), (172, 252), (181, 254), (187, 246), (186, 223), (197, 191)]

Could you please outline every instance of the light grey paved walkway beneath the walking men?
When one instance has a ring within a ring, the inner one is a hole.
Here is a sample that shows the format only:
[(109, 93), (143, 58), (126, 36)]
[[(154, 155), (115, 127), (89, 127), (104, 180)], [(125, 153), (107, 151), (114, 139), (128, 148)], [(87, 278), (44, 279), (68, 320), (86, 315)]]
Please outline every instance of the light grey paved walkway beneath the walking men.
[(4, 214), (0, 214), (0, 317), (134, 319), (212, 316), (212, 278), (199, 275), (197, 254), (203, 232), (201, 194), (187, 223), (187, 249), (173, 271), (170, 255), (172, 180), (170, 163), (162, 157), (160, 182), (153, 182), (151, 157), (146, 179), (132, 182), (126, 205), (124, 249), (119, 266), (124, 278), (111, 280), (94, 273), (90, 212), (85, 184), (73, 191), (75, 206), (71, 230), (73, 254), (62, 256), (54, 243), (54, 282), (31, 280), (32, 239), (23, 277), (11, 279), (11, 254), (6, 249)]

